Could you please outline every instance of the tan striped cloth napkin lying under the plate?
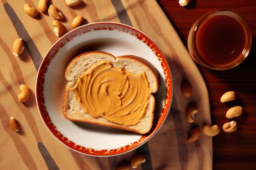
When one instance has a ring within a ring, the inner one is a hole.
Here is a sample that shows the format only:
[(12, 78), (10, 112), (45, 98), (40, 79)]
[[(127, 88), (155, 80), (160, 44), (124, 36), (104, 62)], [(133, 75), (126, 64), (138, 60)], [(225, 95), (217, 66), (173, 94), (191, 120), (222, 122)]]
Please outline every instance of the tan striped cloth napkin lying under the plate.
[[(189, 130), (198, 125), (211, 125), (207, 88), (198, 68), (189, 56), (172, 24), (155, 0), (83, 0), (67, 7), (64, 0), (49, 1), (64, 15), (65, 33), (71, 22), (83, 15), (86, 23), (121, 22), (148, 35), (166, 56), (173, 76), (173, 103), (170, 113), (157, 134), (140, 148), (115, 157), (90, 157), (68, 149), (47, 130), (40, 118), (35, 100), (36, 74), (48, 49), (58, 40), (53, 33), (52, 18), (47, 12), (35, 18), (23, 11), (25, 3), (37, 7), (38, 0), (2, 0), (0, 5), (0, 169), (84, 169), (115, 170), (143, 153), (146, 162), (138, 170), (208, 170), (212, 169), (212, 138), (204, 134), (194, 143), (187, 143)], [(48, 6), (49, 6), (48, 3)], [(12, 55), (14, 40), (25, 41), (20, 57)], [(182, 95), (181, 84), (188, 80), (193, 95)], [(20, 84), (31, 90), (29, 101), (18, 101)], [(185, 120), (189, 103), (198, 104), (193, 124)], [(15, 132), (10, 117), (20, 124)]]

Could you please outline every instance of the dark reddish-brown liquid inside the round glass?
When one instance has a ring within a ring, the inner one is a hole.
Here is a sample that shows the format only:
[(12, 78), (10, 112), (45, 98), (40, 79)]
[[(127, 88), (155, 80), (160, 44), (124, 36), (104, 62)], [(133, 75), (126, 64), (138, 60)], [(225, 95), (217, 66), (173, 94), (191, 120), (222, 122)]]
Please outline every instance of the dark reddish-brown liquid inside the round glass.
[(195, 45), (204, 62), (211, 66), (225, 66), (243, 55), (245, 36), (239, 21), (227, 15), (215, 15), (200, 25)]

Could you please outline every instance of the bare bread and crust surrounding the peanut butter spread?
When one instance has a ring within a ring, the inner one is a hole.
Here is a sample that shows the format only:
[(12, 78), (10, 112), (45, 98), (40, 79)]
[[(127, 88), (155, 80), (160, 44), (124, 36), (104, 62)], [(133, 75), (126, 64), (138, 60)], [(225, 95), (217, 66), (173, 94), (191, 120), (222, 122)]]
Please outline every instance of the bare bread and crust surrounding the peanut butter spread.
[[(65, 70), (65, 78), (69, 81), (65, 86), (65, 92), (63, 97), (62, 112), (63, 116), (70, 121), (79, 121), (89, 124), (97, 124), (101, 126), (108, 126), (112, 128), (119, 128), (123, 130), (129, 130), (140, 134), (146, 134), (153, 126), (154, 110), (155, 110), (155, 97), (150, 95), (148, 100), (148, 107), (146, 114), (141, 121), (135, 125), (124, 126), (121, 124), (113, 123), (104, 119), (103, 117), (92, 117), (79, 105), (78, 101), (74, 97), (74, 93), (70, 90), (74, 86), (78, 75), (82, 75), (88, 68), (97, 64), (100, 61), (110, 61), (111, 64), (116, 67), (124, 67), (130, 73), (139, 74), (145, 71), (148, 78), (150, 88), (153, 89), (152, 93), (155, 93), (159, 84), (159, 74), (156, 68), (147, 60), (134, 56), (134, 55), (122, 55), (115, 57), (110, 53), (103, 51), (90, 51), (82, 53), (76, 56), (68, 65)], [(136, 66), (138, 68), (136, 68)]]

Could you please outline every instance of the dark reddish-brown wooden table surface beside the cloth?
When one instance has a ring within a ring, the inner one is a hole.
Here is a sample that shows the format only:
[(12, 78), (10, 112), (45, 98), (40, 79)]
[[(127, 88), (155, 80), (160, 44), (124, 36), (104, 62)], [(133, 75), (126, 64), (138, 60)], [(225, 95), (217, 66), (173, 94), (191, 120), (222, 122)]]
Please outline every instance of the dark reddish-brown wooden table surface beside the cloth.
[[(240, 14), (252, 32), (252, 48), (247, 59), (227, 71), (213, 71), (197, 65), (207, 85), (212, 124), (220, 127), (213, 137), (214, 170), (256, 169), (256, 0), (191, 0), (181, 7), (178, 0), (158, 0), (173, 26), (186, 45), (189, 30), (195, 20), (204, 13), (216, 9), (228, 9)], [(226, 104), (220, 97), (234, 91), (237, 98)], [(232, 106), (242, 106), (243, 114), (233, 118), (238, 124), (235, 132), (227, 133), (222, 125), (231, 121), (225, 117)]]

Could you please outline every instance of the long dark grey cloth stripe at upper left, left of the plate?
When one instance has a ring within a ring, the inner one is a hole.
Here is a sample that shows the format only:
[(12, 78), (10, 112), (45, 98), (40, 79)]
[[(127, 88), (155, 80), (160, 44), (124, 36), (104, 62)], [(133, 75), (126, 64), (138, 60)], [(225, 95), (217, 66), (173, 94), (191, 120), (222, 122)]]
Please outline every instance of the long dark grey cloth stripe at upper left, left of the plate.
[(11, 19), (11, 22), (13, 23), (13, 26), (15, 27), (19, 38), (22, 38), (22, 40), (24, 41), (25, 47), (27, 48), (31, 59), (34, 62), (36, 69), (38, 70), (43, 58), (39, 53), (35, 43), (29, 36), (29, 33), (25, 29), (24, 25), (20, 22), (20, 19), (18, 18), (12, 7), (9, 4), (5, 3), (4, 9), (9, 18)]

